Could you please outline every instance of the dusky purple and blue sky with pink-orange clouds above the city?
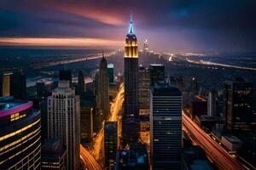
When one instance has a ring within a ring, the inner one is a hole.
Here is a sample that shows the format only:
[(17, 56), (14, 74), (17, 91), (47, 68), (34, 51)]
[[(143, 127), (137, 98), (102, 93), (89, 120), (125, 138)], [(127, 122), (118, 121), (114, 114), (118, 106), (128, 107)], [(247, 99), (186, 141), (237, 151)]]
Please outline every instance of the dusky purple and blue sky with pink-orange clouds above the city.
[(0, 0), (0, 46), (255, 52), (255, 0)]

